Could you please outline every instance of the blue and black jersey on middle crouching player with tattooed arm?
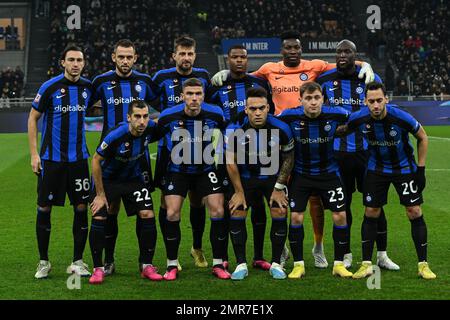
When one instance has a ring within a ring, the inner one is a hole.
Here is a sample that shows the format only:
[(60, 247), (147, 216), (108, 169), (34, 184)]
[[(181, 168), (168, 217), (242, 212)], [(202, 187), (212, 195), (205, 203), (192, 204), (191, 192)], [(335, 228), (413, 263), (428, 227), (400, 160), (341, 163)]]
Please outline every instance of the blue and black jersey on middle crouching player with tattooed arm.
[(246, 116), (241, 124), (231, 123), (226, 129), (225, 149), (235, 154), (242, 178), (268, 179), (278, 175), (280, 151), (293, 148), (291, 128), (271, 114), (262, 128), (254, 129)]

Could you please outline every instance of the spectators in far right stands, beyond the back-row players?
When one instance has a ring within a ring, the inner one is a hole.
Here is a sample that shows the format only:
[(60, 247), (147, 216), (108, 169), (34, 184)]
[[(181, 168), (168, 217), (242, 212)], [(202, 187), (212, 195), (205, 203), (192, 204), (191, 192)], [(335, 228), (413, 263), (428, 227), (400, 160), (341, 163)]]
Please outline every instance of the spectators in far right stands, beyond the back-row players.
[(383, 0), (380, 7), (383, 26), (378, 46), (385, 46), (388, 68), (399, 71), (394, 94), (450, 94), (448, 2)]

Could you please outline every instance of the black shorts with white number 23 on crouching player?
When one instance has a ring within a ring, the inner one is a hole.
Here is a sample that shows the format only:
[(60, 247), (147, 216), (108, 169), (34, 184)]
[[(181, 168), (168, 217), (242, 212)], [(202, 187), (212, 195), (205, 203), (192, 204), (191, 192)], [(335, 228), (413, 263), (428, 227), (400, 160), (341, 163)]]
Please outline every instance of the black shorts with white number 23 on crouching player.
[(344, 185), (338, 172), (320, 176), (294, 173), (288, 190), (291, 212), (304, 212), (311, 195), (320, 196), (332, 212), (345, 211)]

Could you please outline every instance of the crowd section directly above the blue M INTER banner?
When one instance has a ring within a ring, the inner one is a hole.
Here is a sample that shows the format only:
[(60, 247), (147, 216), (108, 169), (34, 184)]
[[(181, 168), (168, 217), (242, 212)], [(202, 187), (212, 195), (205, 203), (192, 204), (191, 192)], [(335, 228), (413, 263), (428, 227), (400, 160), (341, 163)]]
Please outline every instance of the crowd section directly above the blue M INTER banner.
[(216, 45), (226, 38), (277, 37), (299, 30), (302, 38), (357, 38), (350, 0), (247, 0), (209, 3), (208, 21)]

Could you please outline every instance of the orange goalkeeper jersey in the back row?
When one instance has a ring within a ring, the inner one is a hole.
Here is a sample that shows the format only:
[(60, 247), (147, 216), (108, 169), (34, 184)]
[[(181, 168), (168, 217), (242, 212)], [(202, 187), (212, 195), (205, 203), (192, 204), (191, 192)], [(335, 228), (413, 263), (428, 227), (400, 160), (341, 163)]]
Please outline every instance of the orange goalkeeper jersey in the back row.
[(275, 114), (300, 105), (300, 86), (307, 81), (315, 81), (325, 71), (335, 68), (323, 60), (300, 60), (297, 67), (286, 67), (283, 61), (268, 62), (252, 74), (266, 79), (272, 87)]

